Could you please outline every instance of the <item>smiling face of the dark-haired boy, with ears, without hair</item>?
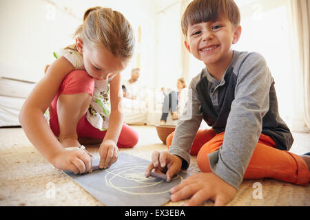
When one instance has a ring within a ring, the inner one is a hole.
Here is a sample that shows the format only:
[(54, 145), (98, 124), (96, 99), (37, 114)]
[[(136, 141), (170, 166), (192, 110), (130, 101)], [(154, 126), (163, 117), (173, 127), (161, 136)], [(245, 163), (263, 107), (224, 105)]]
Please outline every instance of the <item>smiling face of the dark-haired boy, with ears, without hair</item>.
[(231, 44), (237, 43), (241, 27), (228, 19), (189, 25), (185, 46), (205, 65), (228, 65), (232, 58)]

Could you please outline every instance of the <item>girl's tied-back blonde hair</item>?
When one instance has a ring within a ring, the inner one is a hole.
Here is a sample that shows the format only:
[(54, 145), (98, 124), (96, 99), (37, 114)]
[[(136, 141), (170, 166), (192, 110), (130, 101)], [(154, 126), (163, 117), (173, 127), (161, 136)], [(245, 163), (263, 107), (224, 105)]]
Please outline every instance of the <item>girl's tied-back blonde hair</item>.
[(122, 61), (134, 54), (132, 26), (123, 14), (111, 8), (97, 6), (86, 10), (83, 24), (74, 33), (76, 36), (82, 39), (83, 45), (104, 46)]

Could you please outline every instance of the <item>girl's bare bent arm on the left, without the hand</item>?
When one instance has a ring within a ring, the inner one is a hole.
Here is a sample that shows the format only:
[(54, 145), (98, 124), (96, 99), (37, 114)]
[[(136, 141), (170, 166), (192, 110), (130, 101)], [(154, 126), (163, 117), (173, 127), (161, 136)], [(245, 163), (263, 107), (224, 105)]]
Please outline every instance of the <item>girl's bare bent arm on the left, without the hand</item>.
[(54, 61), (25, 100), (19, 113), (19, 122), (28, 139), (49, 162), (63, 147), (54, 137), (44, 113), (56, 96), (63, 78), (73, 70), (72, 64), (64, 57)]

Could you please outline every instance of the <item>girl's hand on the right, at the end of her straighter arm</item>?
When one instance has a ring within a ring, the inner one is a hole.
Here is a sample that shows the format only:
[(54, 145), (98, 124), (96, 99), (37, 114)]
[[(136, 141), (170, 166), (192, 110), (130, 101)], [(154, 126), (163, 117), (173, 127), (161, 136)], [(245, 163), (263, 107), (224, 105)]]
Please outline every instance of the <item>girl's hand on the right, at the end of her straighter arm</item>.
[(99, 149), (99, 168), (109, 168), (118, 158), (118, 147), (113, 140), (103, 140)]

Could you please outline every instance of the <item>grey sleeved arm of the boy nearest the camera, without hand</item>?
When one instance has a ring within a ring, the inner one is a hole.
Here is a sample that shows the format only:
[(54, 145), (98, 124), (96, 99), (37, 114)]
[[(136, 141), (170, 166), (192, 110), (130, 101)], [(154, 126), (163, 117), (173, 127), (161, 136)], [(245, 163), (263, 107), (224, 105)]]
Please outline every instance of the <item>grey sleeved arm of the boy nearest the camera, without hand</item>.
[[(235, 70), (234, 70), (235, 71)], [(269, 109), (271, 74), (260, 54), (250, 54), (239, 69), (235, 99), (227, 119), (223, 146), (208, 155), (214, 174), (238, 188)]]

